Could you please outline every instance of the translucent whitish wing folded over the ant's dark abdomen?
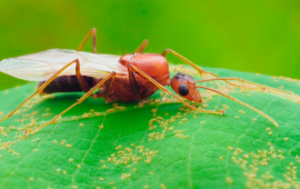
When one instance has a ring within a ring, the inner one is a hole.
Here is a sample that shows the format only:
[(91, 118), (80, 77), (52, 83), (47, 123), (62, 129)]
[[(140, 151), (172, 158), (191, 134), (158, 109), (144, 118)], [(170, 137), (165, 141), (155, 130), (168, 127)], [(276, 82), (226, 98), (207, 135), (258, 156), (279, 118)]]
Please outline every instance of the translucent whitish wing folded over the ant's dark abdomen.
[[(44, 81), (70, 61), (79, 59), (82, 76), (103, 78), (112, 71), (127, 73), (127, 68), (119, 63), (119, 58), (112, 54), (50, 49), (4, 59), (0, 62), (0, 71), (28, 81)], [(69, 74), (76, 74), (76, 64), (68, 67), (60, 76)]]

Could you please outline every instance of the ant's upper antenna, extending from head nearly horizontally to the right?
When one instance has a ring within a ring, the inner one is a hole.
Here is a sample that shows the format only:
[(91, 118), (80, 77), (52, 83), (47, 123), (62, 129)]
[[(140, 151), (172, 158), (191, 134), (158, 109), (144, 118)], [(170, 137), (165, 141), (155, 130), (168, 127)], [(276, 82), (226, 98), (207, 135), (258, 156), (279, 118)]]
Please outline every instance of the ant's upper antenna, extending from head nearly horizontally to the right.
[[(283, 92), (283, 93), (294, 94), (291, 91), (286, 91), (286, 90), (280, 90), (280, 89), (276, 89), (276, 88), (262, 86), (262, 84), (259, 84), (259, 83), (256, 83), (256, 82), (251, 82), (251, 81), (247, 81), (247, 80), (243, 80), (243, 79), (240, 79), (240, 78), (212, 78), (212, 79), (199, 80), (199, 81), (196, 81), (196, 82), (219, 81), (219, 80), (222, 80), (222, 81), (236, 80), (236, 81), (240, 81), (240, 82), (244, 82), (244, 83), (248, 83), (248, 84), (252, 84), (252, 86), (259, 87), (261, 90), (268, 89), (269, 91), (273, 90), (273, 91), (277, 91), (277, 92)], [(237, 86), (237, 87), (243, 87), (241, 84), (234, 84), (234, 86)], [(254, 89), (254, 88), (251, 88), (251, 87), (246, 87), (246, 88)]]

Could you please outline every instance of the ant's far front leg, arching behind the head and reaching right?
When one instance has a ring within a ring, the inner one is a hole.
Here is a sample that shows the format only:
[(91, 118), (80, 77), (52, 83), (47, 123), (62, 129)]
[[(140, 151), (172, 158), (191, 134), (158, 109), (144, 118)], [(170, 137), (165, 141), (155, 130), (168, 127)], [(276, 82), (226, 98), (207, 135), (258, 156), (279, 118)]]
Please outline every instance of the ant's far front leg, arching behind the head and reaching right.
[[(216, 77), (217, 79), (219, 80), (223, 80), (224, 82), (233, 86), (233, 87), (241, 87), (240, 84), (236, 84), (236, 83), (232, 83), (228, 80), (239, 80), (241, 82), (246, 82), (246, 83), (251, 83), (251, 84), (254, 84), (259, 88), (261, 88), (262, 90), (266, 90), (266, 89), (269, 89), (269, 90), (276, 90), (276, 91), (280, 91), (280, 92), (283, 92), (283, 93), (290, 93), (290, 94), (293, 94), (292, 92), (289, 92), (289, 91), (284, 91), (284, 90), (280, 90), (280, 89), (274, 89), (274, 88), (271, 88), (271, 87), (267, 87), (267, 86), (262, 86), (262, 84), (258, 84), (258, 83), (254, 83), (254, 82), (250, 82), (250, 81), (247, 81), (247, 80), (243, 80), (243, 79), (221, 79), (221, 77), (219, 77), (218, 74), (214, 74), (212, 72), (209, 72), (209, 71), (206, 71), (203, 70), (202, 68), (198, 67), (197, 64), (194, 64), (193, 62), (191, 62), (190, 60), (188, 60), (187, 58), (184, 58), (183, 56), (177, 53), (176, 51), (171, 50), (171, 49), (166, 49), (163, 52), (162, 52), (162, 56), (166, 57), (168, 52), (171, 52), (172, 54), (174, 54), (176, 57), (178, 57), (179, 59), (183, 60), (186, 63), (188, 63), (189, 66), (191, 66), (193, 69), (196, 69), (200, 76), (202, 77), (203, 73), (207, 73), (207, 74), (210, 74), (210, 76), (213, 76)], [(216, 80), (217, 80), (216, 79)], [(212, 79), (213, 80), (213, 79)], [(202, 82), (202, 81), (199, 81), (199, 82)], [(251, 88), (250, 88), (251, 89)]]

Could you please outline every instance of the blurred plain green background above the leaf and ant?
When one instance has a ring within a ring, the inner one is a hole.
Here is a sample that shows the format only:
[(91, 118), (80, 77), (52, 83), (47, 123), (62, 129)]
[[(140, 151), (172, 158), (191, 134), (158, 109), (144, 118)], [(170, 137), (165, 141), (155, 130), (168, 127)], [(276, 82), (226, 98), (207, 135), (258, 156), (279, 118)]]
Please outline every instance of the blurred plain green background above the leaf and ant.
[[(299, 0), (2, 0), (0, 18), (1, 60), (77, 49), (97, 28), (102, 53), (132, 52), (149, 39), (147, 51), (170, 48), (199, 66), (300, 78)], [(0, 89), (17, 83), (0, 73)]]

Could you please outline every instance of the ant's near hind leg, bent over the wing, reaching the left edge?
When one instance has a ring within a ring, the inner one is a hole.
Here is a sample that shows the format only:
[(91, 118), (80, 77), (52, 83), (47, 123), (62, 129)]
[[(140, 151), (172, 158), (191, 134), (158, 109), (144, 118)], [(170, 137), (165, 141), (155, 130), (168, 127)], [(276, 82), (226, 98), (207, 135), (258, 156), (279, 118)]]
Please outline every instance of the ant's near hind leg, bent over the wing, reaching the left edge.
[(38, 90), (32, 93), (30, 97), (28, 97), (21, 105), (19, 105), (12, 112), (10, 112), (8, 116), (6, 116), (4, 118), (0, 119), (0, 122), (10, 118), (16, 111), (18, 111), (29, 99), (31, 99), (32, 97), (34, 97), (38, 93), (42, 93), (43, 89), (50, 83), (52, 82), (63, 70), (66, 70), (68, 67), (70, 67), (72, 63), (76, 63), (76, 76), (78, 79), (78, 82), (80, 84), (80, 87), (82, 88), (82, 90), (87, 90), (88, 91), (88, 86), (86, 83), (86, 81), (83, 80), (81, 73), (80, 73), (80, 63), (79, 60), (76, 59), (69, 63), (67, 63), (64, 67), (62, 67), (57, 73), (54, 73), (50, 79), (48, 79), (44, 83), (41, 84), (41, 87), (38, 88)]

